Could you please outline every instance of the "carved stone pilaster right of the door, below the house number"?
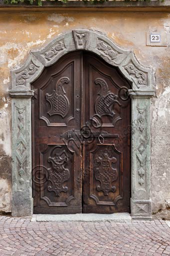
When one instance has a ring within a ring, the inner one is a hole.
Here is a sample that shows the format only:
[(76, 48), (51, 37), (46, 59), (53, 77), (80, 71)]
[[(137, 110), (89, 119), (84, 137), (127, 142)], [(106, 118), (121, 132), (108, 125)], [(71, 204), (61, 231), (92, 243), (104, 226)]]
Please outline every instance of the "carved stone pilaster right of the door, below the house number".
[[(132, 100), (132, 198), (134, 219), (152, 219), (150, 198), (150, 97), (153, 91), (129, 91)], [(145, 95), (145, 96), (144, 96)]]

